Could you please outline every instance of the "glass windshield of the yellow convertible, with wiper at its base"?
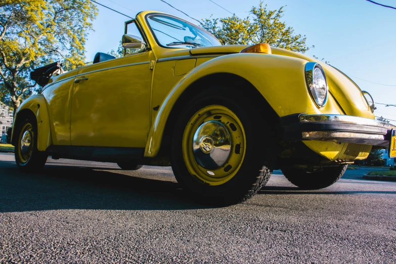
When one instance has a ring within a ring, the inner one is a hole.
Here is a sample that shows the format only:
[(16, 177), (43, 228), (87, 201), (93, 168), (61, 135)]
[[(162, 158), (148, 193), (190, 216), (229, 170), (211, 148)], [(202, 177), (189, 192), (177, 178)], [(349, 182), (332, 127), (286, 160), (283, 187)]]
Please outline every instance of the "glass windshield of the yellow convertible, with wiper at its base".
[(165, 48), (193, 49), (222, 45), (208, 32), (177, 18), (152, 15), (148, 17), (148, 23), (158, 44)]

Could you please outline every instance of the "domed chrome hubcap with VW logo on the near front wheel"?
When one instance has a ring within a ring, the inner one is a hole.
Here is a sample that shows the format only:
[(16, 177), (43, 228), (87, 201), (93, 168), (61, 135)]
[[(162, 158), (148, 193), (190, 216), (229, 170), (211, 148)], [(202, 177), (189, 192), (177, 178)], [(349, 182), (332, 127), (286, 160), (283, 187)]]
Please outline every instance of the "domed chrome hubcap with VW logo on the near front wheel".
[(231, 137), (227, 127), (218, 121), (202, 123), (193, 138), (195, 161), (205, 169), (223, 166), (231, 153)]

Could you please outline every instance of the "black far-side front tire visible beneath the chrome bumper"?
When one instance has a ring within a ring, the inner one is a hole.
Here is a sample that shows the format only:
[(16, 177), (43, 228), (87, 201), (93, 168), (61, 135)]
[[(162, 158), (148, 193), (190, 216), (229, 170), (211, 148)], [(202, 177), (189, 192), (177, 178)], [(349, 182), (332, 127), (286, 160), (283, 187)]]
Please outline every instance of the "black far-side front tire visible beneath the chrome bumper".
[(348, 165), (325, 167), (318, 172), (305, 169), (282, 168), (286, 179), (303, 190), (318, 190), (335, 184), (344, 174)]

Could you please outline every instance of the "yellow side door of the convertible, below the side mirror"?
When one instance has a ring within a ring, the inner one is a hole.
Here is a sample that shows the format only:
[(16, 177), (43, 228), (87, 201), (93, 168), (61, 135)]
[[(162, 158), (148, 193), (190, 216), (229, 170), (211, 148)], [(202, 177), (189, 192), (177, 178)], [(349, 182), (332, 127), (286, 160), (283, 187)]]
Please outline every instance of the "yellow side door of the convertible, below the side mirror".
[(153, 56), (144, 51), (81, 68), (73, 87), (72, 146), (146, 146)]

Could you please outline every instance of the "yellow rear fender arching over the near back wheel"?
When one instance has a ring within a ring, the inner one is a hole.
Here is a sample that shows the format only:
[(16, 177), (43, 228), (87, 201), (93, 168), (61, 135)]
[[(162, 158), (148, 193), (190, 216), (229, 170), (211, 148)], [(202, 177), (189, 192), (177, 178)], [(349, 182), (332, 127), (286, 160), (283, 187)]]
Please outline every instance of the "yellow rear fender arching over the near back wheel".
[(18, 122), (18, 118), (22, 118), (27, 110), (30, 110), (35, 115), (37, 120), (37, 149), (39, 151), (45, 151), (48, 146), (51, 145), (51, 128), (47, 102), (42, 95), (31, 96), (23, 101), (23, 103), (19, 106), (14, 118), (11, 136), (13, 139), (12, 143), (15, 145), (15, 124)]

